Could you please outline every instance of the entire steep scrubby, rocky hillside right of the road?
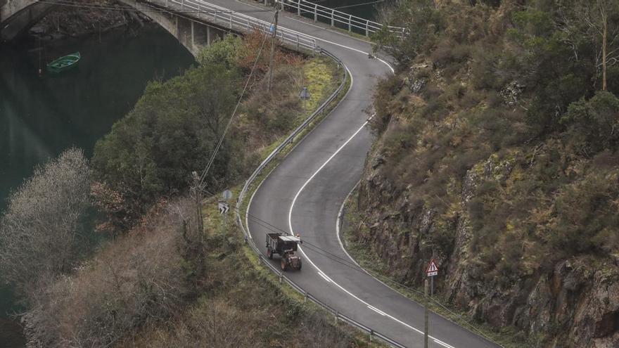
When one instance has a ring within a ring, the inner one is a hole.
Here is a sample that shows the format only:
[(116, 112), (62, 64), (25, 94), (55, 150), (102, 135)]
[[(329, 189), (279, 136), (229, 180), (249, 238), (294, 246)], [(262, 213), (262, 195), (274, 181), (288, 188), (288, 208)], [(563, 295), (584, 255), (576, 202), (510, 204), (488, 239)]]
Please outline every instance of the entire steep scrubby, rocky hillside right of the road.
[[(436, 3), (436, 4), (435, 4)], [(619, 342), (619, 3), (398, 1), (355, 240), (530, 347)]]

